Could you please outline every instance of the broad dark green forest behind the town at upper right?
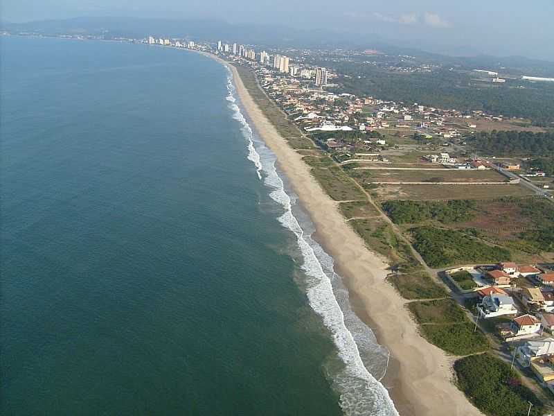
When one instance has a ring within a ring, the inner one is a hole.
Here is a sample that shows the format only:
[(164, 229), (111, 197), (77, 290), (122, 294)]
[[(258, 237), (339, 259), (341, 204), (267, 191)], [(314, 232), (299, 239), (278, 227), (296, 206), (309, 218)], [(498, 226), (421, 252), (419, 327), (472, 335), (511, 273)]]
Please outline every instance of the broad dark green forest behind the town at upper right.
[(522, 117), (542, 127), (554, 125), (554, 86), (546, 83), (521, 85), (513, 81), (496, 85), (444, 68), (399, 73), (352, 62), (337, 62), (333, 66), (343, 74), (335, 80), (344, 87), (342, 91), (357, 96), (462, 112), (481, 110), (504, 117)]

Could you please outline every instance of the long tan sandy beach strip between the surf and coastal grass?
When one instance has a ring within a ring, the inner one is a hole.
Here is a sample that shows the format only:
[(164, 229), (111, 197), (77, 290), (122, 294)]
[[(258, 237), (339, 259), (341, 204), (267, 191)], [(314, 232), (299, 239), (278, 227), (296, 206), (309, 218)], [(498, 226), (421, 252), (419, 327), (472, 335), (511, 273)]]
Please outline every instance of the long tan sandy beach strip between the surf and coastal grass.
[(339, 212), (337, 202), (312, 177), (301, 155), (280, 137), (254, 103), (238, 71), (229, 68), (244, 109), (316, 226), (316, 241), (333, 257), (350, 293), (352, 309), (373, 329), (378, 342), (391, 351), (382, 382), (400, 415), (482, 415), (452, 383), (453, 359), (419, 335), (405, 308), (406, 301), (385, 281), (386, 263), (366, 248)]

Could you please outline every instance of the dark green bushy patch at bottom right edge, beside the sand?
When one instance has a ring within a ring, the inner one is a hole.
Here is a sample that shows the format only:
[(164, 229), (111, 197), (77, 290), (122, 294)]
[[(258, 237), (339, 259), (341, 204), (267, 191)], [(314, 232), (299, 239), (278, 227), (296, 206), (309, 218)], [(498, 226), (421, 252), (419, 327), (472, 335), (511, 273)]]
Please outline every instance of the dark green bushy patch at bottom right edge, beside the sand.
[(454, 363), (458, 388), (472, 403), (489, 416), (527, 415), (530, 401), (531, 415), (544, 414), (543, 404), (535, 394), (521, 385), (519, 376), (492, 354), (479, 354), (459, 359)]

